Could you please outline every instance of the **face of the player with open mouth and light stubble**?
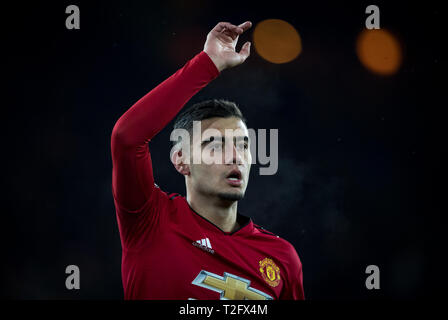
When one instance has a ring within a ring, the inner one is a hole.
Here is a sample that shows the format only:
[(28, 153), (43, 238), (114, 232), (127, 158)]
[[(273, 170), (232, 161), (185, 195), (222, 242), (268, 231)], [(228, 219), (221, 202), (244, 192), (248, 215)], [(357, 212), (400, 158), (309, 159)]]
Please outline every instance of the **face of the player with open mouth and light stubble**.
[[(195, 192), (222, 200), (241, 200), (252, 162), (249, 143), (247, 127), (239, 118), (201, 121), (201, 135), (193, 135), (190, 152), (189, 179)], [(201, 154), (200, 163), (194, 163), (194, 152)]]

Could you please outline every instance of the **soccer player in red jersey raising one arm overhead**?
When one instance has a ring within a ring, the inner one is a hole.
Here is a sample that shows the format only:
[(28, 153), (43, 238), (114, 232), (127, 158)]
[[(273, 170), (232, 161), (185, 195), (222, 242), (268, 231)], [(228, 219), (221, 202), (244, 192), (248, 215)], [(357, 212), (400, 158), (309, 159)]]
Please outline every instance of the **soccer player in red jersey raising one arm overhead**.
[[(235, 103), (213, 99), (179, 114), (175, 128), (191, 132), (193, 121), (200, 121), (202, 133), (222, 133), (220, 138), (193, 134), (190, 149), (172, 152), (172, 163), (185, 177), (186, 197), (154, 182), (148, 142), (193, 95), (247, 59), (250, 42), (240, 52), (235, 46), (251, 26), (250, 21), (218, 23), (203, 51), (137, 101), (113, 128), (112, 191), (125, 299), (304, 299), (294, 247), (237, 211), (251, 154), (245, 119)], [(226, 141), (226, 129), (240, 136)], [(197, 163), (189, 152), (194, 149), (222, 150), (230, 160)]]

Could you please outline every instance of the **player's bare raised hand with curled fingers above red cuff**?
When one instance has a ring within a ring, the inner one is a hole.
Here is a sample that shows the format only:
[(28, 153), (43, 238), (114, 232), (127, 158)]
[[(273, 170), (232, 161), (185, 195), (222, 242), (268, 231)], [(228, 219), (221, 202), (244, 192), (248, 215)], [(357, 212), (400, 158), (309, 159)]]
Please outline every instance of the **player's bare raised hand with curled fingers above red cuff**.
[(250, 27), (252, 27), (250, 21), (246, 21), (239, 26), (229, 22), (220, 22), (208, 33), (204, 51), (220, 72), (243, 63), (249, 57), (249, 41), (243, 45), (239, 53), (235, 51), (235, 46), (238, 37)]

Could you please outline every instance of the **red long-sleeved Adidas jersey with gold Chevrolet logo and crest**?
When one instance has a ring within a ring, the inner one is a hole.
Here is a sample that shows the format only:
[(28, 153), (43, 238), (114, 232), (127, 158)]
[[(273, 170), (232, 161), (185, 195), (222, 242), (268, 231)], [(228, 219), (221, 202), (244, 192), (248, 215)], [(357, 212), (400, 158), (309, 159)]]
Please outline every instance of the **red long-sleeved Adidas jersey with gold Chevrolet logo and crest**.
[(125, 299), (304, 299), (286, 240), (238, 213), (224, 232), (155, 183), (148, 142), (219, 70), (201, 51), (135, 103), (112, 132), (112, 191)]

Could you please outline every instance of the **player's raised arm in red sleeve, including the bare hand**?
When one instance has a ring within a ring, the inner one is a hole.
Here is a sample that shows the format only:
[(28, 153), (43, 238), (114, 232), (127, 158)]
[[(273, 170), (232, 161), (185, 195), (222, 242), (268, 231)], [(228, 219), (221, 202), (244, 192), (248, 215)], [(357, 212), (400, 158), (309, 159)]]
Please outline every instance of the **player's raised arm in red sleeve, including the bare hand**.
[(207, 35), (204, 50), (138, 100), (115, 124), (112, 137), (112, 191), (119, 210), (136, 213), (151, 199), (154, 186), (147, 143), (219, 72), (249, 56), (246, 43), (235, 52), (238, 36), (250, 28), (218, 23)]

